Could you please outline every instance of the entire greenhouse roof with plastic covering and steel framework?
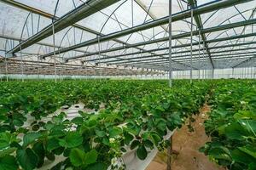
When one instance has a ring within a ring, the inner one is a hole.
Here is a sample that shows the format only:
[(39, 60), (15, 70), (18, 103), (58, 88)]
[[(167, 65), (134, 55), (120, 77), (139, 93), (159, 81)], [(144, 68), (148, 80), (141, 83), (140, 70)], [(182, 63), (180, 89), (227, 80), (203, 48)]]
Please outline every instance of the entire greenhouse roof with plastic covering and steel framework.
[(173, 71), (252, 67), (255, 10), (256, 0), (0, 0), (0, 71), (159, 74), (169, 44)]

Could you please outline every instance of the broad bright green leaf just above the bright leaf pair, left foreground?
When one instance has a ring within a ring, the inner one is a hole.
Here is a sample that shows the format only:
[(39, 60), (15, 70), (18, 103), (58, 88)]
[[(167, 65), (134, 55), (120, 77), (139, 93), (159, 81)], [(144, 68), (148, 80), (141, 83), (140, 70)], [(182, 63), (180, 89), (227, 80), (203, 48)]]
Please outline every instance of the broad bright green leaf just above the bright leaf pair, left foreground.
[(83, 137), (78, 132), (67, 132), (64, 139), (59, 139), (59, 144), (66, 148), (74, 148), (83, 143)]

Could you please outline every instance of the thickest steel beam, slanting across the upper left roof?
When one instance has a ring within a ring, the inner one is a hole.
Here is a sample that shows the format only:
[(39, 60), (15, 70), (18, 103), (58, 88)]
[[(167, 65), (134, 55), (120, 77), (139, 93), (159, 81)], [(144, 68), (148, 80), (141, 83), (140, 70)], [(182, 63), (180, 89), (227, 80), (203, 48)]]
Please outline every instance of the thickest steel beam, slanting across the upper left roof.
[[(8, 3), (8, 0), (2, 0), (4, 3)], [(103, 8), (107, 8), (108, 6), (112, 5), (113, 3), (117, 3), (119, 0), (90, 0), (86, 3), (83, 3), (78, 8), (73, 9), (67, 14), (61, 16), (61, 18), (55, 20), (53, 24), (46, 26), (42, 31), (39, 31), (37, 34), (29, 37), (24, 42), (20, 42), (15, 48), (10, 50), (8, 53), (14, 54), (20, 49), (27, 48), (32, 44), (43, 40), (46, 37), (49, 37), (53, 34), (52, 26), (55, 26), (55, 33), (61, 31), (67, 26), (72, 26), (74, 23), (78, 22), (79, 20), (83, 20), (84, 18), (90, 16), (91, 14), (95, 14), (99, 10)]]

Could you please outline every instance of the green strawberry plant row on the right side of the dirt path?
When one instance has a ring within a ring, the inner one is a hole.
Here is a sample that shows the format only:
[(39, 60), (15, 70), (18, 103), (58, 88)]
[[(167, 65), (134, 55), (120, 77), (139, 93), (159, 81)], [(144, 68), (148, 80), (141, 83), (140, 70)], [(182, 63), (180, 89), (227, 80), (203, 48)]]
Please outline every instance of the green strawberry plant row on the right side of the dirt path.
[(232, 170), (256, 169), (256, 83), (222, 81), (212, 91), (205, 122), (212, 138), (201, 151)]

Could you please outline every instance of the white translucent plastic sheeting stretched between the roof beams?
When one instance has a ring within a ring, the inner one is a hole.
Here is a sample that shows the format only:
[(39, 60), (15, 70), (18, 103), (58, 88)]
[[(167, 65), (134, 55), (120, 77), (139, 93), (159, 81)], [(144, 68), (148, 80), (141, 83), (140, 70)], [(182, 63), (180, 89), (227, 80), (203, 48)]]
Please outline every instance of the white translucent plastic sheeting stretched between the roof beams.
[[(69, 11), (74, 8), (79, 7), (85, 0), (16, 0), (18, 3), (25, 4), (29, 7), (36, 8), (44, 13), (48, 13), (51, 15), (61, 17), (63, 14), (67, 14)], [(183, 10), (189, 9), (186, 1), (181, 0), (172, 0), (172, 14), (182, 12)], [(213, 0), (198, 0), (198, 5), (203, 5), (205, 3), (214, 2)], [(58, 4), (56, 6), (56, 4)], [(77, 24), (79, 26), (84, 26), (85, 28), (89, 28), (92, 31), (100, 32), (102, 34), (110, 34), (116, 31), (122, 31), (127, 28), (131, 28), (132, 26), (142, 25), (147, 23), (148, 21), (157, 20), (162, 17), (168, 15), (168, 6), (169, 0), (121, 0), (118, 3), (114, 3), (108, 8), (102, 9), (102, 11), (97, 12), (96, 14), (92, 14), (84, 20), (80, 20)], [(56, 8), (56, 10), (55, 10)], [(204, 28), (209, 28), (212, 26), (222, 26), (238, 21), (255, 19), (255, 14), (253, 14), (253, 9), (256, 8), (256, 0), (247, 3), (241, 3), (236, 6), (232, 6), (230, 8), (221, 8), (218, 11), (213, 11), (207, 14), (201, 14), (201, 20)], [(21, 8), (17, 8), (11, 6), (6, 3), (1, 3), (0, 1), (0, 50), (9, 51), (11, 48), (14, 48), (17, 44), (19, 44), (20, 38), (25, 40), (28, 37), (32, 37), (38, 31), (44, 29), (45, 26), (51, 24), (52, 20), (46, 18), (45, 16), (39, 16), (38, 14), (30, 14), (29, 11), (26, 11)], [(190, 31), (190, 18), (179, 20), (172, 23), (172, 34), (179, 34), (183, 32)], [(195, 20), (194, 20), (195, 24)], [(194, 26), (194, 30), (197, 30), (197, 27)], [(138, 31), (130, 35), (126, 35), (124, 37), (117, 38), (118, 40), (124, 43), (137, 43), (144, 42), (152, 39), (157, 39), (161, 37), (168, 37), (168, 26), (156, 26), (154, 28), (150, 28), (144, 31)], [(211, 33), (207, 33), (207, 40), (220, 38), (220, 37), (232, 37), (241, 34), (247, 34), (256, 32), (255, 26), (247, 26), (245, 29), (243, 27), (238, 27), (230, 30), (224, 31), (215, 31)], [(83, 31), (79, 28), (73, 28), (73, 26), (69, 26), (66, 29), (63, 29), (60, 32), (55, 34), (55, 50), (57, 48), (65, 48), (69, 46), (73, 46), (75, 44), (79, 44), (80, 42), (88, 41), (90, 39), (96, 38), (95, 33), (91, 33), (89, 31)], [(253, 42), (255, 41), (255, 37), (246, 37), (241, 38), (239, 40), (230, 40), (230, 41), (222, 41), (222, 42), (212, 42), (209, 43), (209, 48), (215, 46), (223, 46), (227, 44), (236, 44), (238, 42)], [(13, 41), (15, 39), (15, 41)], [(193, 37), (194, 42), (198, 41), (198, 37)], [(172, 44), (180, 45), (189, 43), (189, 37), (182, 38), (178, 40), (172, 40)], [(90, 45), (88, 47), (79, 48), (78, 50), (73, 50), (67, 52), (65, 54), (61, 54), (61, 57), (68, 59), (73, 56), (93, 53), (100, 50), (121, 47), (124, 43), (116, 42), (114, 40), (108, 42), (99, 42), (99, 44)], [(24, 55), (26, 54), (35, 54), (35, 55), (43, 55), (48, 54), (54, 50), (53, 47), (53, 37), (45, 38), (44, 40), (38, 42), (38, 44), (34, 44), (26, 49), (22, 50)], [(154, 44), (149, 44), (146, 46), (142, 46), (139, 48), (143, 48), (145, 50), (150, 50), (153, 48), (163, 48), (168, 47), (168, 42), (158, 42)], [(247, 47), (255, 47), (254, 45), (245, 46)], [(194, 46), (193, 49), (198, 49), (199, 47)], [(237, 49), (241, 47), (234, 47), (229, 49)], [(189, 50), (189, 47), (186, 48), (174, 48), (175, 51)], [(224, 50), (222, 48), (213, 49), (210, 51), (218, 51)], [(109, 52), (104, 54), (105, 56), (113, 56), (119, 54), (127, 54), (125, 56), (119, 57), (119, 59), (129, 59), (130, 57), (136, 56), (147, 56), (148, 54), (136, 54), (129, 55), (130, 53), (139, 51), (137, 48), (128, 48), (122, 49), (119, 51)], [(157, 51), (154, 54), (163, 54), (166, 53), (166, 57), (168, 56), (168, 51)], [(3, 52), (1, 53), (3, 54)], [(99, 53), (100, 54), (100, 53)], [(99, 54), (92, 55), (88, 58), (84, 59), (95, 59), (101, 58)], [(223, 54), (223, 57), (225, 57)], [(236, 52), (234, 52), (236, 54)], [(17, 53), (16, 55), (20, 55)], [(100, 54), (102, 55), (102, 54)], [(175, 56), (175, 55), (174, 55)], [(195, 56), (195, 55), (194, 55)], [(160, 56), (159, 56), (160, 57)], [(248, 56), (249, 57), (249, 56)], [(115, 58), (116, 59), (116, 58)], [(205, 60), (208, 59), (207, 54), (205, 55)], [(214, 60), (214, 55), (212, 57)], [(109, 59), (111, 60), (111, 59)], [(139, 59), (137, 60), (139, 62)], [(154, 58), (152, 58), (152, 63), (154, 62)], [(189, 61), (183, 60), (179, 61), (180, 63), (184, 63), (185, 65), (189, 65)], [(215, 61), (214, 61), (215, 62)], [(219, 60), (215, 62), (215, 66), (218, 68), (229, 67), (230, 65), (225, 65), (222, 63), (224, 61)], [(166, 64), (164, 64), (166, 65)], [(180, 69), (183, 69), (182, 65), (174, 63)], [(211, 68), (211, 65), (206, 60), (206, 67)], [(201, 64), (195, 65), (195, 67), (200, 67)], [(186, 66), (185, 66), (186, 67)]]

